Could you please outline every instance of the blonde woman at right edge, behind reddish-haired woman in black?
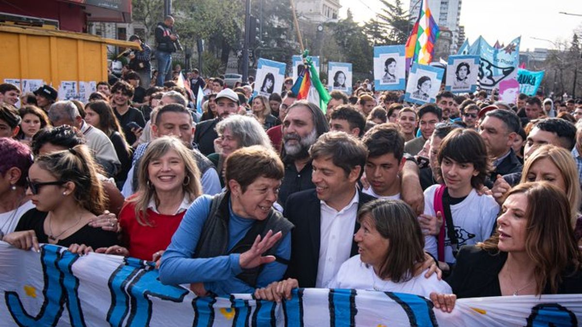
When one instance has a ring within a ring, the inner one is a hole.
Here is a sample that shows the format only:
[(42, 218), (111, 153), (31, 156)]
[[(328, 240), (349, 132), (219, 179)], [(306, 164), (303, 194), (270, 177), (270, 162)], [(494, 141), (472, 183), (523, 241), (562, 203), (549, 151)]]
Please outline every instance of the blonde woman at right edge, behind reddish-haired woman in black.
[(546, 144), (535, 149), (523, 165), (520, 183), (545, 180), (562, 190), (570, 202), (572, 226), (580, 217), (580, 180), (576, 162), (565, 148)]

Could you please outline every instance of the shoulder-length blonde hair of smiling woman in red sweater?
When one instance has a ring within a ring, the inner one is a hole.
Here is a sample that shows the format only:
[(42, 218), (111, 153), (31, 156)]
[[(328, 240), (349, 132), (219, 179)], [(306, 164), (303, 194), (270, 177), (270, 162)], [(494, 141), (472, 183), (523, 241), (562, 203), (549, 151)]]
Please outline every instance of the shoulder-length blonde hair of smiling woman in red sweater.
[(150, 143), (145, 154), (141, 157), (140, 166), (137, 170), (138, 187), (136, 196), (130, 198), (129, 202), (135, 204), (135, 214), (137, 222), (142, 226), (153, 226), (148, 219), (147, 208), (150, 201), (154, 199), (155, 204), (159, 206), (158, 194), (150, 182), (148, 175), (148, 166), (150, 162), (161, 158), (168, 151), (174, 150), (182, 158), (184, 162), (184, 170), (186, 171), (186, 179), (188, 183), (182, 184), (184, 194), (190, 197), (190, 201), (194, 201), (200, 194), (202, 194), (202, 186), (200, 184), (200, 170), (194, 161), (191, 150), (182, 143), (178, 138), (162, 136)]

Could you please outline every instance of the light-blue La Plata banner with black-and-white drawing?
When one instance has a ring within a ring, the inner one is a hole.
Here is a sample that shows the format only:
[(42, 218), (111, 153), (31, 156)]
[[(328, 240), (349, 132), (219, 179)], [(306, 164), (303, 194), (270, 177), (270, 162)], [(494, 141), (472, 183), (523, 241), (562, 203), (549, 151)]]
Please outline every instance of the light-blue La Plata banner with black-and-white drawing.
[(469, 50), (471, 55), (479, 55), (479, 86), (483, 90), (499, 88), (506, 79), (516, 79), (519, 64), (519, 44), (521, 37), (515, 38), (505, 48), (498, 49), (479, 37)]

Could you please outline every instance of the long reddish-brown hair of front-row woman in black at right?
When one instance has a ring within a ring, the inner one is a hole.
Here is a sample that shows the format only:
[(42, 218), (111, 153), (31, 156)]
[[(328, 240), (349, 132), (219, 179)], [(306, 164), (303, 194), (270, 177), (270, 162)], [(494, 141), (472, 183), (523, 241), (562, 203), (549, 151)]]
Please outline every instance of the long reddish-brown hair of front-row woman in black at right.
[[(527, 197), (526, 253), (535, 263), (535, 293), (542, 294), (549, 283), (551, 292), (555, 294), (562, 276), (578, 271), (582, 261), (570, 223), (568, 198), (562, 190), (548, 182), (519, 184), (506, 197), (513, 194)], [(495, 232), (477, 246), (498, 253), (498, 244), (499, 232)]]

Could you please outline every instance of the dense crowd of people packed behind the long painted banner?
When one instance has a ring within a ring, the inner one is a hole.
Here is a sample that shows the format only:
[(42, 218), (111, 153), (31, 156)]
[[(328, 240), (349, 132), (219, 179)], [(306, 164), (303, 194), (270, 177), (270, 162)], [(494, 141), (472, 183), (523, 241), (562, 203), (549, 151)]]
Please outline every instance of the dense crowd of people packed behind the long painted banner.
[(86, 104), (0, 84), (3, 241), (155, 261), (198, 296), (368, 289), (450, 312), (582, 293), (582, 100), (441, 91), (417, 106), (365, 80), (319, 108), (292, 80), (253, 97), (131, 66)]

